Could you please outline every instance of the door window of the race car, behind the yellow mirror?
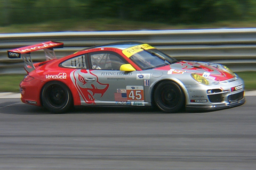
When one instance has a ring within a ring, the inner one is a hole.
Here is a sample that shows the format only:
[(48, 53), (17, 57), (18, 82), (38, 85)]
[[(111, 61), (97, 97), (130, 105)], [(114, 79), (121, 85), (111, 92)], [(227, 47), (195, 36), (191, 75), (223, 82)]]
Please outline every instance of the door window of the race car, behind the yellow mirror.
[(92, 69), (95, 70), (120, 70), (122, 64), (126, 64), (121, 57), (114, 53), (92, 53), (90, 55)]

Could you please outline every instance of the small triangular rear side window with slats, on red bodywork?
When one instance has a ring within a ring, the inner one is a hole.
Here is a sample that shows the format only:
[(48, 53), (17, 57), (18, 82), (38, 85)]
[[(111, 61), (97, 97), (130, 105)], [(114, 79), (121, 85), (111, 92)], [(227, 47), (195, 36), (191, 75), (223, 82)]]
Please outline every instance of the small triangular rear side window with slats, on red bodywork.
[(69, 60), (61, 63), (61, 65), (63, 67), (70, 67), (74, 69), (86, 69), (85, 55), (70, 58)]

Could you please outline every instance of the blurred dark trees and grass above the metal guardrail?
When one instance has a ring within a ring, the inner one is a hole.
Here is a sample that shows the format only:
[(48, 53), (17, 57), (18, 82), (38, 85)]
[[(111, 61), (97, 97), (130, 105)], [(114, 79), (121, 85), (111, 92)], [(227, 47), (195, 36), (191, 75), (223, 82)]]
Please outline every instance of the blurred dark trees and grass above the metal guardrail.
[(254, 27), (255, 0), (0, 0), (0, 32)]

